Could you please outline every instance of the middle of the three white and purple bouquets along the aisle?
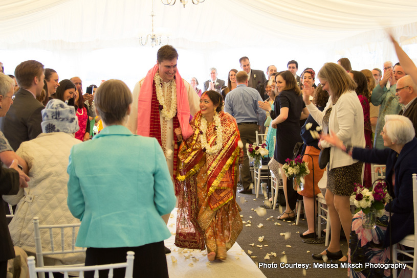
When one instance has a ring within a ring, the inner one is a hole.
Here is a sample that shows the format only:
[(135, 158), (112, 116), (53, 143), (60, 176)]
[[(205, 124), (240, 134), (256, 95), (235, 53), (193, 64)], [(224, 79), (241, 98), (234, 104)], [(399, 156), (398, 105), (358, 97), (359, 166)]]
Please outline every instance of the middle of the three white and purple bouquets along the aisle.
[(309, 163), (302, 161), (302, 156), (298, 155), (294, 160), (287, 158), (286, 164), (282, 166), (285, 175), (289, 178), (293, 178), (294, 190), (304, 189), (304, 177), (310, 174)]

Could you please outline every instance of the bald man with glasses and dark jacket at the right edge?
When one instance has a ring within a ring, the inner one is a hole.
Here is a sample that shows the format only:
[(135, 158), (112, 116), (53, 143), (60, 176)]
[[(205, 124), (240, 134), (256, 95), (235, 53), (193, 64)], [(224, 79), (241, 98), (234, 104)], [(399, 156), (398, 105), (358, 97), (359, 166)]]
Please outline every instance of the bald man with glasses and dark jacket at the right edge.
[(399, 115), (404, 115), (411, 120), (417, 134), (417, 85), (412, 81), (411, 76), (406, 75), (397, 81), (396, 96), (404, 105)]

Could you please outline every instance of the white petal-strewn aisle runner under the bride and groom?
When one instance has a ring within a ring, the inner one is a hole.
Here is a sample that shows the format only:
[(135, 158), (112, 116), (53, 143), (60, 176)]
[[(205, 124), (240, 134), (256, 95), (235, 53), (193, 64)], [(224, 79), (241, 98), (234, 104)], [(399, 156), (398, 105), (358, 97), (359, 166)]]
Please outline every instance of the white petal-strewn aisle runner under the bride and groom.
[[(174, 245), (175, 224), (177, 223), (177, 208), (171, 213), (168, 221), (168, 228), (172, 236), (165, 240), (165, 246), (171, 249), (171, 253), (166, 255), (168, 263), (168, 273), (170, 278), (266, 278), (257, 265), (248, 257), (245, 251), (235, 243), (227, 251), (227, 259), (224, 261), (215, 260), (209, 262), (207, 250), (182, 249)], [(176, 261), (176, 262), (172, 262)]]

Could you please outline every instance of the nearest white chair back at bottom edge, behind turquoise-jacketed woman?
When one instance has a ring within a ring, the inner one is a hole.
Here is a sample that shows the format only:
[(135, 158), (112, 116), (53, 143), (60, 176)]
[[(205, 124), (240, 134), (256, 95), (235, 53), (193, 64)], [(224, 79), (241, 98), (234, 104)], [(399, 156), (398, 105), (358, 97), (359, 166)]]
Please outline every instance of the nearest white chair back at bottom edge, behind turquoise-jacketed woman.
[[(84, 271), (94, 271), (94, 277), (98, 277), (98, 271), (108, 269), (108, 277), (113, 277), (113, 269), (126, 268), (125, 278), (132, 278), (133, 276), (133, 261), (135, 259), (135, 252), (127, 251), (126, 262), (118, 264), (106, 265), (92, 265), (92, 266), (58, 266), (58, 267), (35, 267), (35, 257), (28, 258), (29, 277), (37, 278), (37, 273), (45, 275), (49, 273), (49, 277), (54, 277), (53, 272), (63, 272), (64, 277), (68, 277), (68, 272), (78, 272), (79, 277), (84, 277)], [(40, 276), (40, 275), (39, 275)]]

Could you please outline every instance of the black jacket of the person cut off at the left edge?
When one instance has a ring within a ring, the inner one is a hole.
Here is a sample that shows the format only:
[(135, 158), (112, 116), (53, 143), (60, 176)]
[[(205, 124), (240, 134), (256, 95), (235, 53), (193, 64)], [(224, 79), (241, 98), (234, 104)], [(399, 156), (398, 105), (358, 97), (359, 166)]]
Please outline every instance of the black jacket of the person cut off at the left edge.
[[(0, 166), (0, 198), (19, 192), (19, 173), (14, 169)], [(3, 203), (0, 205), (0, 262), (14, 258), (13, 242), (7, 226), (6, 212)]]

